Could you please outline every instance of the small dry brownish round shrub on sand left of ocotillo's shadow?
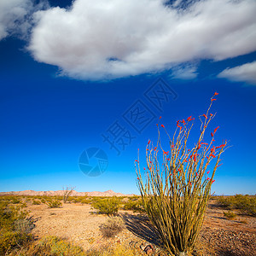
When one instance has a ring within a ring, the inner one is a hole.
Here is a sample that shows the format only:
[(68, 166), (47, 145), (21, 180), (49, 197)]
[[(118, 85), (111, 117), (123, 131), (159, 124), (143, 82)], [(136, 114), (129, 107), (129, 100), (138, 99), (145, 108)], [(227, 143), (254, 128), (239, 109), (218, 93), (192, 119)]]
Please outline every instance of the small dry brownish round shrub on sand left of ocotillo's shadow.
[(104, 237), (113, 237), (117, 236), (119, 232), (124, 230), (125, 226), (120, 218), (108, 218), (105, 224), (100, 225), (100, 230), (102, 232), (102, 236)]

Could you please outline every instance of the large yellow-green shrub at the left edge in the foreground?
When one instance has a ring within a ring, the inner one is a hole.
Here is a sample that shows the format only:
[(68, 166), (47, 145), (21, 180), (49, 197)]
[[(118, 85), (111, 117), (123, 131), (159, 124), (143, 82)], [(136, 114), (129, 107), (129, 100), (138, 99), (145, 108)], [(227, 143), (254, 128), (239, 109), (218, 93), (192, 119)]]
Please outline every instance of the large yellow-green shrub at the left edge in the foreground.
[(32, 219), (27, 218), (27, 214), (20, 207), (0, 204), (0, 255), (32, 240), (30, 232), (34, 225)]

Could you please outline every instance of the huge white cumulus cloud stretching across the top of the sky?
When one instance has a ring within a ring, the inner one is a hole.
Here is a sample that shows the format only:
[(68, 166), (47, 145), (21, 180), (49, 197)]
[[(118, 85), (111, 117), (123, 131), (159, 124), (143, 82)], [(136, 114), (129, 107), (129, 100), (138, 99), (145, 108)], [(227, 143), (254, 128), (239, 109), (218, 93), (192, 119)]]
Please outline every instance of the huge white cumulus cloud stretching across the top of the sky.
[[(35, 14), (28, 49), (75, 79), (116, 79), (256, 50), (255, 0), (75, 0)], [(190, 72), (190, 74), (195, 72)]]

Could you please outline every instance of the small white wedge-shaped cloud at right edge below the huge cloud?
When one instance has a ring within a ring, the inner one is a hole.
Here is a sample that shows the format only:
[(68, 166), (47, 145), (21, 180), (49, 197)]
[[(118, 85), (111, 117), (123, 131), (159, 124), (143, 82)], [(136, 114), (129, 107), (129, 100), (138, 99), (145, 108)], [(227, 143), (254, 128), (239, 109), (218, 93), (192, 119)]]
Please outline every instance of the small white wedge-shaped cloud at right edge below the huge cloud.
[(256, 84), (256, 61), (238, 67), (227, 68), (218, 74), (218, 78)]

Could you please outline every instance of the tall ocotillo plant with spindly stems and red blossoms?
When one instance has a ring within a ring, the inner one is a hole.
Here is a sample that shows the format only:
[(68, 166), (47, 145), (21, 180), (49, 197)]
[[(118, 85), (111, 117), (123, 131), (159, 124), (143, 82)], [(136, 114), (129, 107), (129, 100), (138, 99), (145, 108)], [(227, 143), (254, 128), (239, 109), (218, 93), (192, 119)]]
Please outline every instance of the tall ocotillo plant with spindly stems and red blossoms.
[[(189, 134), (194, 125), (190, 116), (177, 121), (177, 129), (170, 137), (164, 125), (158, 124), (158, 141), (148, 141), (146, 147), (147, 166), (145, 182), (139, 159), (135, 160), (137, 185), (143, 199), (148, 218), (154, 224), (162, 245), (171, 255), (188, 255), (195, 247), (201, 230), (207, 202), (214, 183), (214, 174), (227, 142), (214, 146), (214, 136), (219, 127), (211, 132), (210, 142), (203, 138), (207, 126), (215, 114), (210, 113), (215, 92), (207, 113), (202, 114), (201, 132), (193, 148), (189, 147)], [(170, 149), (165, 151), (160, 141), (160, 130), (166, 132)], [(161, 160), (160, 160), (161, 158)], [(212, 173), (208, 170), (213, 162)], [(209, 177), (208, 177), (209, 175)]]

